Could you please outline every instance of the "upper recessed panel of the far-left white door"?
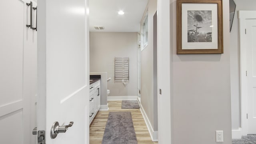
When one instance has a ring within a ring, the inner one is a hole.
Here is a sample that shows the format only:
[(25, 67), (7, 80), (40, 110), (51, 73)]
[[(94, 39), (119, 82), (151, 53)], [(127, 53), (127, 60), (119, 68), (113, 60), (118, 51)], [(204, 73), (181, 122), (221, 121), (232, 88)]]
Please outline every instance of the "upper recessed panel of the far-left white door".
[(20, 0), (0, 1), (0, 106), (22, 100), (24, 8)]

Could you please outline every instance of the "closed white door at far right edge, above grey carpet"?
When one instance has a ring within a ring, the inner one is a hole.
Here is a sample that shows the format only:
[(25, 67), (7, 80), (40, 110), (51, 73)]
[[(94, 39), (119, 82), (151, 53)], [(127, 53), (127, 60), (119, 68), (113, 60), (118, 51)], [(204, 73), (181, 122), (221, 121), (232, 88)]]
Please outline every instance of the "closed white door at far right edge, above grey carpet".
[(256, 134), (256, 20), (246, 20), (248, 134)]

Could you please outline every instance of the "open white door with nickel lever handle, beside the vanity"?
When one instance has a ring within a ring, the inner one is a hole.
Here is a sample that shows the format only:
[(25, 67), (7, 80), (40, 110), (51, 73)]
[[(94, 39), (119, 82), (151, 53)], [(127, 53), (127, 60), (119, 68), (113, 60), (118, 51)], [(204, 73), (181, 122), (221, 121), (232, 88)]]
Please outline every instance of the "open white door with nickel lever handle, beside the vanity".
[[(37, 122), (47, 144), (89, 143), (87, 6), (88, 0), (38, 0)], [(54, 122), (74, 124), (52, 139)]]

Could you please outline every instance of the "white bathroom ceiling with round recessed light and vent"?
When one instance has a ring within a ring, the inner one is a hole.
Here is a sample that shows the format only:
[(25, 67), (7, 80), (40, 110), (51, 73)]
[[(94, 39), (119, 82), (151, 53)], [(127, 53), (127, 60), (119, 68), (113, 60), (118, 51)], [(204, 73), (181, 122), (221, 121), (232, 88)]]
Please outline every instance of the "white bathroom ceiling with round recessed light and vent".
[[(148, 0), (90, 0), (90, 32), (139, 32)], [(118, 11), (124, 11), (119, 15)], [(95, 30), (94, 26), (104, 26)]]

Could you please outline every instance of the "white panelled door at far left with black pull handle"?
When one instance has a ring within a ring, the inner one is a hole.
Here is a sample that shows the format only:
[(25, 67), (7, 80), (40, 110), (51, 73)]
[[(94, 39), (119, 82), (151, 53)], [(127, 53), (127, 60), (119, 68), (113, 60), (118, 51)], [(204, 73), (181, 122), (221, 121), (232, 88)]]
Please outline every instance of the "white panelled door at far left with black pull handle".
[(26, 3), (30, 0), (0, 1), (1, 144), (36, 142), (32, 129), (36, 126), (37, 32), (26, 27), (30, 24), (30, 7)]

